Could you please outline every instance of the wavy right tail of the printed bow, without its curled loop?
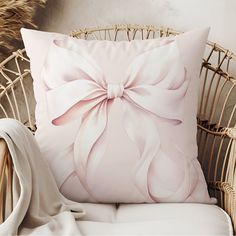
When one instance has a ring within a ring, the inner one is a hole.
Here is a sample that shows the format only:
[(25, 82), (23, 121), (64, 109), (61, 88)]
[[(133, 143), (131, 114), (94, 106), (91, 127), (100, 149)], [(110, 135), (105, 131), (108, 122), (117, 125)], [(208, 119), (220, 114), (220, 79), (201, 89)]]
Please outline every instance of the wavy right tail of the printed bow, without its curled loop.
[(150, 118), (150, 115), (147, 115), (145, 111), (133, 106), (127, 100), (123, 100), (123, 108), (124, 127), (140, 153), (140, 160), (133, 170), (134, 183), (145, 199), (154, 201), (148, 187), (148, 172), (152, 160), (160, 151), (158, 130), (154, 119)]

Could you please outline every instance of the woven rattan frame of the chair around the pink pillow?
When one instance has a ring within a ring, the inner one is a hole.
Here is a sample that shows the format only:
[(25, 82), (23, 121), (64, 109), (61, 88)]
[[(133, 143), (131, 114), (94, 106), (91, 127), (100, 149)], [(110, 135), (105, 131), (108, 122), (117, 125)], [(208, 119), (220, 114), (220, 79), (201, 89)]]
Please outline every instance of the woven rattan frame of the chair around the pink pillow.
[[(116, 25), (83, 29), (71, 36), (83, 39), (133, 40), (176, 35), (154, 26)], [(211, 196), (231, 217), (236, 231), (236, 55), (208, 42), (201, 67), (198, 109), (199, 161)], [(21, 121), (32, 132), (34, 119), (32, 78), (25, 50), (18, 50), (0, 64), (0, 117)], [(0, 222), (13, 208), (14, 166), (7, 146), (0, 140)]]

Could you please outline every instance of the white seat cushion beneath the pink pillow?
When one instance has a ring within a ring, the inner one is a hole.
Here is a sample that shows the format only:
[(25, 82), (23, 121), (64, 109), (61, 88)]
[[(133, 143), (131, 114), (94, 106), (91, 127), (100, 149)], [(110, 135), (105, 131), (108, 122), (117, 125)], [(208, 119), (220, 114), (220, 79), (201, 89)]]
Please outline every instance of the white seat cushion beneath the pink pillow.
[(229, 216), (205, 204), (83, 204), (83, 235), (233, 235)]

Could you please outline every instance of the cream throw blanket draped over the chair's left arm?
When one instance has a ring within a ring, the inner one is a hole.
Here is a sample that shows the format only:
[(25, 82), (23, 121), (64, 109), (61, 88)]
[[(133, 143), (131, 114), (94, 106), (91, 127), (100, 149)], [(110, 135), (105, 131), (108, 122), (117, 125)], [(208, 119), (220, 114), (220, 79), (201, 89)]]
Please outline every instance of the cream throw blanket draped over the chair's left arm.
[(81, 235), (76, 221), (80, 203), (63, 197), (34, 136), (20, 122), (0, 119), (15, 169), (14, 209), (0, 225), (0, 235)]

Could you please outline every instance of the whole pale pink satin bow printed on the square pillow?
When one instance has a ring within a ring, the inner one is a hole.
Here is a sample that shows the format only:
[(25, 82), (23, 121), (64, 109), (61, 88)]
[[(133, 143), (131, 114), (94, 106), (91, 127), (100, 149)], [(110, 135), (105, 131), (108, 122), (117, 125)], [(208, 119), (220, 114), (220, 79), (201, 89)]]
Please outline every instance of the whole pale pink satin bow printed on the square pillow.
[[(81, 118), (74, 143), (74, 160), (81, 182), (86, 185), (90, 154), (103, 136), (112, 101), (122, 102), (123, 122), (130, 139), (137, 144), (140, 162), (134, 170), (140, 191), (150, 198), (147, 172), (160, 149), (156, 122), (177, 125), (183, 120), (184, 97), (189, 80), (175, 41), (136, 56), (124, 73), (124, 82), (107, 83), (101, 68), (91, 57), (63, 48), (54, 42), (44, 68), (51, 121), (63, 125)], [(105, 141), (96, 153), (102, 158)]]

